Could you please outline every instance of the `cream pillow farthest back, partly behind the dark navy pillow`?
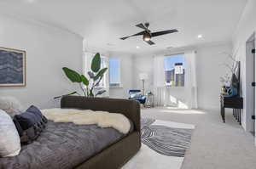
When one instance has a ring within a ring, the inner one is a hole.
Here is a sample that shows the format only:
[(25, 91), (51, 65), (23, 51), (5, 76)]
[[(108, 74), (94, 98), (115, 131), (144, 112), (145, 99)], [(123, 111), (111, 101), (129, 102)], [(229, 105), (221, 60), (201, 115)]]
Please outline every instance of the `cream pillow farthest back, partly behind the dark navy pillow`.
[(20, 114), (23, 108), (18, 99), (11, 96), (0, 97), (0, 110), (4, 110), (11, 117)]

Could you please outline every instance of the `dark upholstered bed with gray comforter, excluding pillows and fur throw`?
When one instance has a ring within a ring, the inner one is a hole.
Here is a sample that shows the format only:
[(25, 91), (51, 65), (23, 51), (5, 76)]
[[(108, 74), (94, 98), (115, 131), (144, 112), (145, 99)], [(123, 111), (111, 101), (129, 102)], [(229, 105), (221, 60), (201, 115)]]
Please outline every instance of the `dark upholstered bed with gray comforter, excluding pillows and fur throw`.
[(123, 134), (111, 127), (49, 121), (36, 141), (22, 146), (20, 155), (1, 158), (0, 168), (118, 169), (140, 149), (137, 101), (67, 96), (61, 99), (61, 108), (121, 113), (133, 127)]

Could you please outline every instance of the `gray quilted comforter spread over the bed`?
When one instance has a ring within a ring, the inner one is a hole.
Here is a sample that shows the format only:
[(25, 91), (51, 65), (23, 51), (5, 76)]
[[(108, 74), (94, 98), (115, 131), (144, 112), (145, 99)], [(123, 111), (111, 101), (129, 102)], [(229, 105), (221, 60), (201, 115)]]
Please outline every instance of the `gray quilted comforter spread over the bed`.
[(122, 137), (113, 128), (49, 121), (36, 141), (22, 146), (20, 155), (0, 158), (0, 168), (70, 169)]

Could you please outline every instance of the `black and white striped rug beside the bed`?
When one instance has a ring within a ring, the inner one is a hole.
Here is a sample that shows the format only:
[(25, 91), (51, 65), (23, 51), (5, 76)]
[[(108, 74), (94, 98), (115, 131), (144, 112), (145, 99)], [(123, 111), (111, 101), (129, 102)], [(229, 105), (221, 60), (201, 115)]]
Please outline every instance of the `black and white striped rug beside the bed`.
[(194, 125), (142, 119), (142, 149), (122, 169), (180, 169)]

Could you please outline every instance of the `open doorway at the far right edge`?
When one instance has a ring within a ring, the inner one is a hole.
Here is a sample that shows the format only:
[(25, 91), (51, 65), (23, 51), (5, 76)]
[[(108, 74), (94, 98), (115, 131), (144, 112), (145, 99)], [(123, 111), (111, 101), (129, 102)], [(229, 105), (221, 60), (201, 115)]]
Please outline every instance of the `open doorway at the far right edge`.
[(255, 33), (247, 40), (247, 128), (255, 137)]

